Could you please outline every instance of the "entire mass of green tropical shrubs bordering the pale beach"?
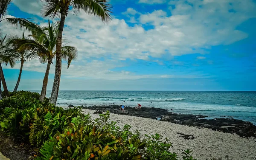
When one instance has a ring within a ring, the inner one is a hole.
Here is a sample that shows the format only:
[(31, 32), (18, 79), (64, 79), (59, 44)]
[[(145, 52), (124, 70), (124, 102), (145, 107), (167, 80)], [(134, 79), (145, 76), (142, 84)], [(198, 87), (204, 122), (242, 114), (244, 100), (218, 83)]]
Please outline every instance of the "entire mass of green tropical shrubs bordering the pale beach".
[[(0, 101), (0, 130), (37, 152), (37, 160), (177, 160), (169, 140), (158, 134), (141, 139), (131, 126), (109, 121), (109, 112), (94, 121), (80, 108), (62, 109), (19, 91)], [(15, 103), (16, 102), (16, 103)], [(194, 160), (184, 151), (183, 160)]]

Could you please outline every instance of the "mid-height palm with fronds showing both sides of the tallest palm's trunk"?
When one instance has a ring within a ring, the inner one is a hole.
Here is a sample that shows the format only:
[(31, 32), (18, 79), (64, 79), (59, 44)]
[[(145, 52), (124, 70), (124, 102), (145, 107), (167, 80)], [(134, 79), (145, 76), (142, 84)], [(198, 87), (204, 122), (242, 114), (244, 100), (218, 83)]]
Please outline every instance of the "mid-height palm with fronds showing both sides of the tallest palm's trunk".
[[(29, 28), (28, 30), (31, 32), (27, 39), (12, 39), (12, 41), (10, 41), (12, 44), (17, 45), (18, 51), (36, 53), (39, 56), (41, 63), (47, 63), (43, 87), (39, 98), (40, 101), (44, 101), (47, 91), (50, 66), (52, 64), (52, 59), (56, 56), (58, 26), (59, 22), (50, 24), (49, 21), (47, 27), (41, 27), (36, 24), (27, 25), (26, 27)], [(61, 55), (62, 59), (67, 61), (67, 68), (69, 68), (72, 60), (76, 59), (77, 49), (71, 46), (62, 46)]]

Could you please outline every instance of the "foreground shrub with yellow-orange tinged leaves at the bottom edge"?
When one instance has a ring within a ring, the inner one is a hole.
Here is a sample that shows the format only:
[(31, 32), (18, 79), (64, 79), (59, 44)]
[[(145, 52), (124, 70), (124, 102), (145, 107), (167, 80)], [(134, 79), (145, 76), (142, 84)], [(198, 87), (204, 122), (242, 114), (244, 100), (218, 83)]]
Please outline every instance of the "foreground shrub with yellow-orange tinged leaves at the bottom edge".
[[(105, 121), (103, 115), (97, 121)], [(97, 122), (96, 122), (97, 124)], [(58, 132), (55, 138), (44, 143), (38, 160), (140, 160), (139, 149), (145, 147), (145, 143), (139, 139), (132, 141), (121, 137), (116, 138), (108, 132), (104, 132), (104, 126), (94, 126), (94, 122), (83, 126), (73, 125)], [(52, 147), (53, 146), (53, 147)]]

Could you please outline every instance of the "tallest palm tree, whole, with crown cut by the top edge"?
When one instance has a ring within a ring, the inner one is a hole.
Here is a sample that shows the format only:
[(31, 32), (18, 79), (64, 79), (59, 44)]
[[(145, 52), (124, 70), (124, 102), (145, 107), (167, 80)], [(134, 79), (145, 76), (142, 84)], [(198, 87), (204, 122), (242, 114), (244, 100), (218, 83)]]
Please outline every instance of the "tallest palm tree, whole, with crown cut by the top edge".
[(61, 44), (62, 32), (68, 11), (71, 9), (74, 13), (84, 10), (85, 13), (99, 17), (103, 22), (108, 23), (111, 20), (111, 5), (108, 0), (41, 0), (44, 3), (44, 17), (60, 17), (60, 25), (58, 27), (58, 37), (56, 45), (56, 65), (55, 76), (52, 86), (50, 102), (56, 104), (58, 91), (61, 80)]

